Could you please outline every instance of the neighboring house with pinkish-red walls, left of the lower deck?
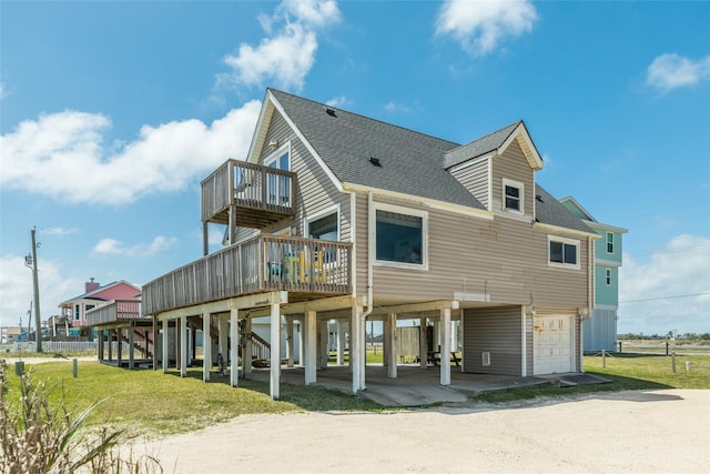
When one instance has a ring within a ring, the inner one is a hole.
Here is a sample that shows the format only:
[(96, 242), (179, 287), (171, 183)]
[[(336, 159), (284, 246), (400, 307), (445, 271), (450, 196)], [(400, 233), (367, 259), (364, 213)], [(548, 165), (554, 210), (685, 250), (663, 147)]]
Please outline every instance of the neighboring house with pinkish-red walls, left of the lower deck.
[(59, 307), (62, 315), (69, 320), (71, 326), (85, 326), (87, 312), (102, 306), (112, 300), (136, 300), (141, 294), (141, 288), (124, 280), (101, 285), (93, 279), (85, 283), (84, 293), (61, 302)]

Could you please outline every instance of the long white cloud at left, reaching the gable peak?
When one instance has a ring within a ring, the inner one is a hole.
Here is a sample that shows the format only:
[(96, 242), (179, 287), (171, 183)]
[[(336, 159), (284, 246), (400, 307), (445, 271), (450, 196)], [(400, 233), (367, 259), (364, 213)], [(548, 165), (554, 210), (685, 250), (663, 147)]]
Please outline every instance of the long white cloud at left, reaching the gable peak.
[(195, 119), (144, 125), (118, 150), (103, 147), (111, 121), (102, 114), (43, 114), (0, 137), (0, 186), (114, 205), (178, 191), (227, 158), (245, 158), (260, 110), (260, 101), (250, 101), (210, 125)]

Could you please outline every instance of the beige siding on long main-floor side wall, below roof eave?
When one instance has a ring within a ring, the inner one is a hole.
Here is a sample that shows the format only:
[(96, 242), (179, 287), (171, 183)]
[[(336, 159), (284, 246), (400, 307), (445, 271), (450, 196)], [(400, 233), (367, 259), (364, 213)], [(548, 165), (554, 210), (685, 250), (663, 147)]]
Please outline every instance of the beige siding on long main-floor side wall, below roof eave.
[[(580, 239), (578, 270), (548, 266), (548, 233), (529, 222), (494, 221), (383, 200), (428, 212), (429, 270), (376, 265), (375, 297), (392, 301), (452, 299), (454, 292), (486, 294), (490, 302), (586, 306), (587, 240)], [(367, 199), (357, 199), (358, 288), (366, 278)], [(564, 235), (564, 234), (562, 234)], [(362, 290), (361, 290), (362, 291)]]

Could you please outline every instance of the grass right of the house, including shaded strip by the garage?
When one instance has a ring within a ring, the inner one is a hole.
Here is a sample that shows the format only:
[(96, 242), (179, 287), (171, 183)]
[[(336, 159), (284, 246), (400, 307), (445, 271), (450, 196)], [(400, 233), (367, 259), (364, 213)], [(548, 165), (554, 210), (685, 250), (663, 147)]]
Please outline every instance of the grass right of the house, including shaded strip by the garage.
[[(604, 364), (606, 362), (606, 367)], [(690, 363), (690, 371), (686, 370)], [(539, 385), (521, 389), (488, 392), (475, 395), (474, 401), (501, 403), (530, 400), (542, 396), (566, 396), (595, 392), (618, 392), (623, 390), (662, 389), (710, 389), (710, 356), (678, 355), (676, 373), (672, 372), (672, 357), (647, 354), (617, 354), (607, 356), (585, 356), (585, 372), (608, 379), (611, 383), (556, 387)]]

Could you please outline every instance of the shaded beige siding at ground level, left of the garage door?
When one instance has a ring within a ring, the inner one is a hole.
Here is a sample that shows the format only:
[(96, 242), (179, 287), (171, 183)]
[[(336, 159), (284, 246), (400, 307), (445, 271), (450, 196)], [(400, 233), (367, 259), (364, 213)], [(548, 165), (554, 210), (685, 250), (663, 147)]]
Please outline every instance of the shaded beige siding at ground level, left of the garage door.
[[(464, 310), (464, 372), (521, 375), (523, 317), (520, 306)], [(490, 365), (483, 365), (483, 353)]]

